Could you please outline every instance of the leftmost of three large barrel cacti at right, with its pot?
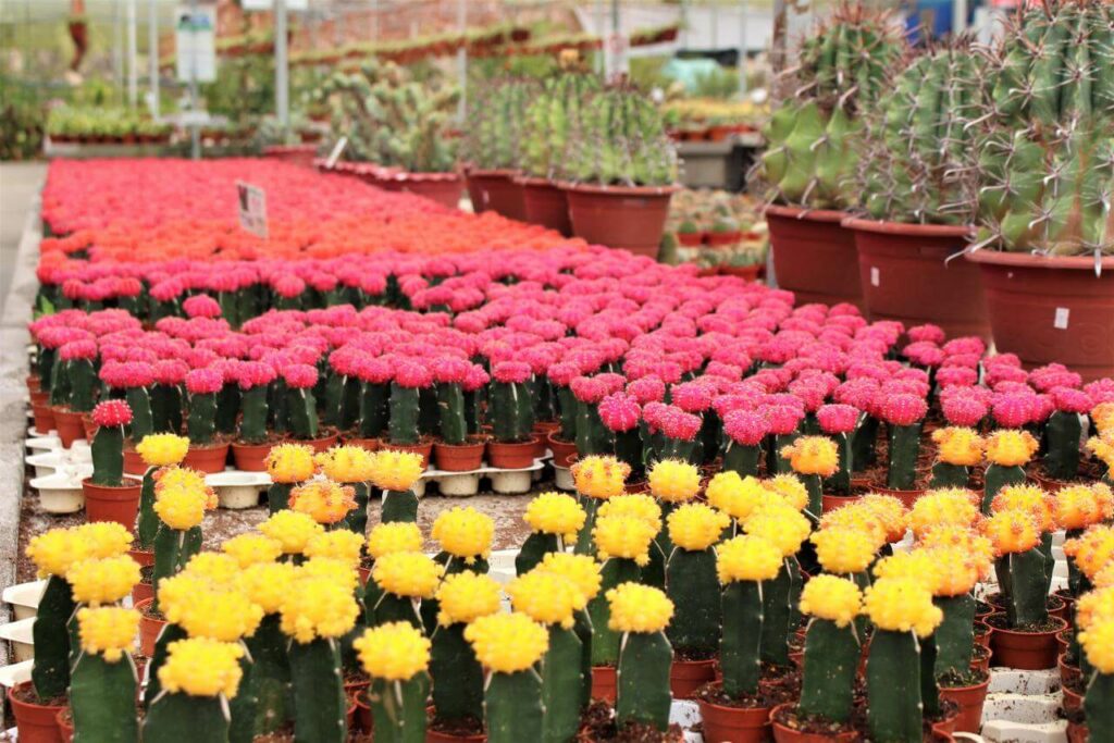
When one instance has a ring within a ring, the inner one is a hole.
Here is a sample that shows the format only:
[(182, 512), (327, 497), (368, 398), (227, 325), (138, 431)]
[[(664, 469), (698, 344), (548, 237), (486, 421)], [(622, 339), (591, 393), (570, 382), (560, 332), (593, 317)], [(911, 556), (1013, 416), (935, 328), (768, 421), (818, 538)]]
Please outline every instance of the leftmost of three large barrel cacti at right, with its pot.
[(885, 89), (905, 52), (889, 13), (839, 6), (801, 45), (781, 80), (791, 91), (764, 129), (759, 176), (778, 284), (798, 302), (862, 303), (853, 235), (840, 226), (854, 207), (852, 183), (863, 136), (862, 111)]

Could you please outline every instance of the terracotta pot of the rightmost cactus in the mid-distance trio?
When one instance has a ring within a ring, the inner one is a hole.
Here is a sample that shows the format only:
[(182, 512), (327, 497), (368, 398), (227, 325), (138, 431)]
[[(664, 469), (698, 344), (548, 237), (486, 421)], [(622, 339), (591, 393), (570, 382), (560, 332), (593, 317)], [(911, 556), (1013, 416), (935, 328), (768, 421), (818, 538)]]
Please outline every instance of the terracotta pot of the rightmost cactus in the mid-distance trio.
[(678, 186), (596, 186), (561, 183), (573, 234), (594, 245), (657, 258)]

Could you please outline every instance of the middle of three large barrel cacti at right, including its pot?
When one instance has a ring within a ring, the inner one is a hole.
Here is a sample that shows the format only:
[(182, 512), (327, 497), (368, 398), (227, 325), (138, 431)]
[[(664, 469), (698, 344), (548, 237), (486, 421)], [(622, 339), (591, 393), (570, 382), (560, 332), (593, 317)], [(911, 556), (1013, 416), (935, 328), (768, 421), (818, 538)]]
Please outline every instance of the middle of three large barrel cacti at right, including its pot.
[(867, 214), (848, 217), (870, 316), (989, 338), (978, 270), (947, 261), (973, 232), (970, 173), (984, 65), (961, 38), (898, 74), (867, 116), (859, 183)]

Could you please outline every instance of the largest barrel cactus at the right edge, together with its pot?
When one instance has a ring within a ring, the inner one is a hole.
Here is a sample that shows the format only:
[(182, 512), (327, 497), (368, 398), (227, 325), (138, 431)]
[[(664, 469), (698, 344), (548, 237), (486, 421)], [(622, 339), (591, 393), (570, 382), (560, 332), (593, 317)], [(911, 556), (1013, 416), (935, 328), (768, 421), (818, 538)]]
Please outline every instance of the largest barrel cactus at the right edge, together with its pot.
[(978, 235), (965, 257), (983, 274), (995, 345), (1085, 380), (1114, 374), (1114, 306), (1104, 301), (1114, 294), (1114, 98), (1110, 40), (1089, 32), (1111, 22), (1101, 3), (1027, 9), (996, 50), (989, 100), (973, 119), (983, 128)]

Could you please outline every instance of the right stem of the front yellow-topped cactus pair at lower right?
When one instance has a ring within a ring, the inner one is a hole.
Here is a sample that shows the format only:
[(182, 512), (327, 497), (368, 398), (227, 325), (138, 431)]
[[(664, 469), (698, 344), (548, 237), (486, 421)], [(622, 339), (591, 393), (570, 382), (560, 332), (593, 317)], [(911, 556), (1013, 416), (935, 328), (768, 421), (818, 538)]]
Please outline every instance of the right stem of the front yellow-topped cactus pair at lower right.
[(878, 743), (920, 743), (920, 644), (911, 632), (876, 629), (867, 659), (867, 721)]

